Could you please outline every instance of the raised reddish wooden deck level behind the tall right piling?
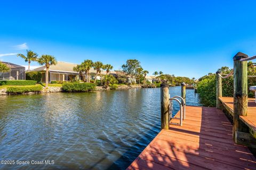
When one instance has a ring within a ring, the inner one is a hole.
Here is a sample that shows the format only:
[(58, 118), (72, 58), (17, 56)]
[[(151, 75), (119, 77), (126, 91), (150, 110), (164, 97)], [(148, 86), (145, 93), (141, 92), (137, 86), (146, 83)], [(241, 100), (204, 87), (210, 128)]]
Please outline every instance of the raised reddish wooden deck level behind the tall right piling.
[[(234, 116), (234, 98), (233, 97), (219, 97), (223, 106), (227, 111)], [(248, 113), (247, 116), (239, 116), (239, 119), (243, 121), (250, 130), (250, 133), (256, 138), (256, 103), (255, 99), (248, 98)]]

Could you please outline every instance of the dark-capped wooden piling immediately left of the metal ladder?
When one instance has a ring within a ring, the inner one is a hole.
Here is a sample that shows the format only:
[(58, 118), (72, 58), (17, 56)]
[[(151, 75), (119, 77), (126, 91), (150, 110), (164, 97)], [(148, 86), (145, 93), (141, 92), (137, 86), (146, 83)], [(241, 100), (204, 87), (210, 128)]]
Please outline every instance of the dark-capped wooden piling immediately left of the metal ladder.
[(169, 84), (161, 84), (161, 129), (169, 129)]

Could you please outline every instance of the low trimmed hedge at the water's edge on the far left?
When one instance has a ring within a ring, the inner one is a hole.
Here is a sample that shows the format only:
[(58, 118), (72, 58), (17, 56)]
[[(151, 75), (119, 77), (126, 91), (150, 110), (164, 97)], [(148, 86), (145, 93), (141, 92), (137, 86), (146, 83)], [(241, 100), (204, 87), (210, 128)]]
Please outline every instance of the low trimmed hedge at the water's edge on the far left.
[(17, 86), (17, 87), (7, 87), (6, 92), (7, 94), (11, 94), (11, 95), (18, 95), (18, 94), (25, 94), (28, 92), (41, 92), (41, 90), (43, 89), (42, 86)]

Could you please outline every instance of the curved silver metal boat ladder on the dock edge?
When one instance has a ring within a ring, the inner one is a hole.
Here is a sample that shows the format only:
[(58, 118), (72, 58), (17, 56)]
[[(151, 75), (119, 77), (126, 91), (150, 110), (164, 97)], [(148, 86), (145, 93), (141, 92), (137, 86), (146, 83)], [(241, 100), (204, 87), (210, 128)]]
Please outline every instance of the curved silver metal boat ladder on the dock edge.
[[(181, 99), (181, 100), (179, 100), (178, 98)], [(182, 126), (182, 121), (185, 120), (185, 116), (186, 116), (186, 102), (180, 96), (174, 96), (174, 97), (170, 98), (169, 100), (170, 100), (170, 104), (169, 104), (169, 122), (171, 121), (171, 119), (178, 119), (178, 120), (180, 120), (180, 123), (170, 123), (170, 124)], [(172, 117), (173, 100), (175, 100), (175, 101), (177, 101), (179, 103), (179, 106), (180, 106), (180, 117)]]

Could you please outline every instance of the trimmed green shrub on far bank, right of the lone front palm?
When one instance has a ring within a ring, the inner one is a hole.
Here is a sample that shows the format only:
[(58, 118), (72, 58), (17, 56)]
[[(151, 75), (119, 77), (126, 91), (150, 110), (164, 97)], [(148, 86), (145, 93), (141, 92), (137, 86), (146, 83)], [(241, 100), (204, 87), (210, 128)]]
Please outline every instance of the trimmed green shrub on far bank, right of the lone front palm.
[(62, 90), (65, 92), (85, 92), (95, 90), (96, 85), (94, 83), (64, 83)]

